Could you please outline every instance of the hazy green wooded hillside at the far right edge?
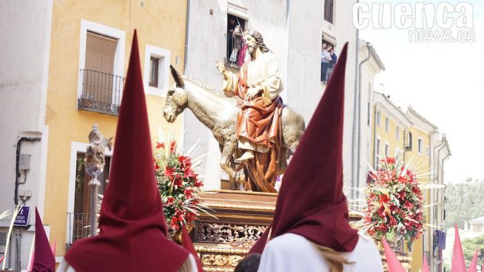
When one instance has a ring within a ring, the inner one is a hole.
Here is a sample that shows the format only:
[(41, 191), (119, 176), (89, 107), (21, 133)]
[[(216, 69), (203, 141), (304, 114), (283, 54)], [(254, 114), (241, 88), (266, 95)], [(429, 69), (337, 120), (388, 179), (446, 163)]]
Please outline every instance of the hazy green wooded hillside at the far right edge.
[(484, 181), (450, 183), (445, 190), (445, 228), (464, 228), (465, 221), (484, 216)]

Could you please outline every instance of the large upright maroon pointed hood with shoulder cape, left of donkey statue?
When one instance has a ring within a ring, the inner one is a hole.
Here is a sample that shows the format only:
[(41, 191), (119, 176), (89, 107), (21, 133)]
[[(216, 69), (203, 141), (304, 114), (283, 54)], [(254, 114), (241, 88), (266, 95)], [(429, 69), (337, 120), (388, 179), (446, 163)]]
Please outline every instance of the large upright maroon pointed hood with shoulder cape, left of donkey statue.
[(77, 272), (177, 271), (188, 252), (167, 239), (156, 188), (136, 30), (124, 84), (100, 234), (81, 239), (65, 258)]

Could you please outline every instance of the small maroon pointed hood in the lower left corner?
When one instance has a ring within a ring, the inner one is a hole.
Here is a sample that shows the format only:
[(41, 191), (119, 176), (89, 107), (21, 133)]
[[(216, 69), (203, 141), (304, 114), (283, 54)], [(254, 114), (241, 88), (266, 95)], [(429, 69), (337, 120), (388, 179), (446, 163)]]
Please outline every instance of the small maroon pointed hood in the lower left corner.
[(44, 224), (40, 219), (39, 211), (35, 207), (35, 246), (32, 272), (54, 272), (55, 257), (50, 249)]

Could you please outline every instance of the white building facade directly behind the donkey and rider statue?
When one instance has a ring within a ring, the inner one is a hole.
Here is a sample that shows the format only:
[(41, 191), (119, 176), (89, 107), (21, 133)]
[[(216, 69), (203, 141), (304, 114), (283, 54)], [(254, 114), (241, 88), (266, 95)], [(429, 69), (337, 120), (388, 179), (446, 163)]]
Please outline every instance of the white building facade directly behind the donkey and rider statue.
[[(335, 45), (339, 55), (349, 42), (346, 61), (344, 123), (344, 181), (351, 186), (351, 148), (353, 102), (355, 94), (356, 30), (351, 8), (355, 1), (257, 1), (210, 0), (189, 1), (187, 55), (185, 74), (221, 88), (222, 75), (214, 60), (227, 57), (227, 18), (236, 17), (243, 30), (257, 30), (276, 55), (283, 80), (281, 97), (286, 105), (304, 116), (306, 125), (324, 93), (321, 78), (322, 40)], [(227, 65), (231, 71), (230, 65)], [(205, 166), (205, 188), (220, 189), (227, 176), (219, 166), (220, 151), (212, 133), (194, 115), (185, 111), (185, 149), (195, 143), (208, 154)], [(356, 148), (355, 146), (353, 146)]]

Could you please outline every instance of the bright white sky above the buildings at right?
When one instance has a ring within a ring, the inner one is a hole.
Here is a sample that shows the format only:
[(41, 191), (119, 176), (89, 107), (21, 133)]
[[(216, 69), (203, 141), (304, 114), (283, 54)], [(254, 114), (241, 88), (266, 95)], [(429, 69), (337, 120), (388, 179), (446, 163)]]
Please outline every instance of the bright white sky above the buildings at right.
[[(394, 23), (388, 29), (375, 29), (371, 23), (360, 30), (360, 38), (373, 44), (386, 67), (375, 78), (375, 89), (391, 96), (396, 105), (411, 105), (447, 136), (452, 156), (445, 162), (446, 183), (484, 179), (484, 1), (465, 1), (472, 5), (472, 16), (467, 17), (473, 19), (472, 28), (453, 24), (447, 29), (452, 37), (463, 30), (469, 39), (472, 38), (469, 31), (475, 31), (473, 42), (410, 42), (409, 30), (415, 30), (416, 3), (420, 1), (361, 2), (369, 3), (370, 7), (375, 7), (371, 3), (380, 3), (380, 8), (383, 2), (391, 3), (388, 13), (393, 15), (395, 12), (391, 10), (398, 3), (410, 4), (413, 19), (409, 29), (397, 28)], [(425, 1), (435, 7), (442, 2)], [(455, 6), (459, 1), (445, 2)], [(457, 18), (461, 14), (459, 11), (447, 16)], [(443, 28), (424, 26), (418, 31), (429, 30)]]

